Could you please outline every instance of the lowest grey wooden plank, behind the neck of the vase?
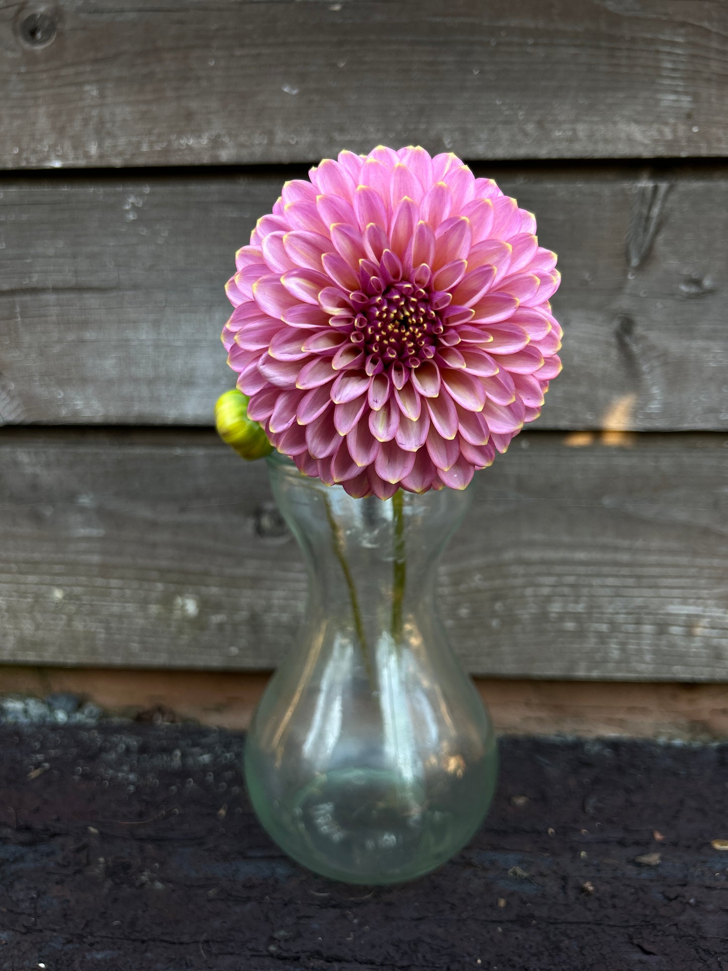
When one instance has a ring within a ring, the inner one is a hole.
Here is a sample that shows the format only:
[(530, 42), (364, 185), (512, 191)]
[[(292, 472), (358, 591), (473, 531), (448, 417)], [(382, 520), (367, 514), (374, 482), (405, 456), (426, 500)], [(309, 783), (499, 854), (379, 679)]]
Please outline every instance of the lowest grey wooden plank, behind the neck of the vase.
[[(727, 456), (711, 434), (516, 439), (442, 572), (470, 670), (725, 681)], [(307, 586), (274, 510), (265, 463), (210, 431), (3, 429), (0, 661), (269, 669)]]

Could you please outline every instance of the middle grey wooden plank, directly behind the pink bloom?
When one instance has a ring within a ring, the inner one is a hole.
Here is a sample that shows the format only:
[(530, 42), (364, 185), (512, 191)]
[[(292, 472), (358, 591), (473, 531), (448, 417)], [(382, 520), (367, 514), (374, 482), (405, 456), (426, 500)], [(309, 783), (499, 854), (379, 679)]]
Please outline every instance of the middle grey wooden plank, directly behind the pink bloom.
[[(479, 171), (560, 254), (540, 426), (728, 428), (728, 171)], [(210, 424), (234, 252), (303, 172), (0, 180), (0, 423)]]

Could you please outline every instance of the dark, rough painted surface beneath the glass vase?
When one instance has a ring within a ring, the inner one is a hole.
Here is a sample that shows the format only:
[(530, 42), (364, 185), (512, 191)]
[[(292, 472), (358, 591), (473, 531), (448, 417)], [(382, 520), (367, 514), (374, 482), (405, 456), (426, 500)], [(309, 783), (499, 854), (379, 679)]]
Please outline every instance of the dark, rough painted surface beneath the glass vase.
[(371, 889), (281, 855), (241, 736), (92, 714), (0, 728), (3, 968), (728, 967), (726, 746), (506, 740), (473, 843)]

